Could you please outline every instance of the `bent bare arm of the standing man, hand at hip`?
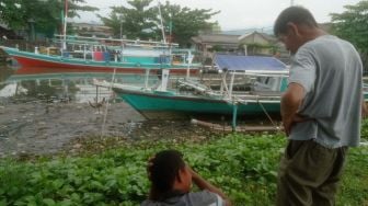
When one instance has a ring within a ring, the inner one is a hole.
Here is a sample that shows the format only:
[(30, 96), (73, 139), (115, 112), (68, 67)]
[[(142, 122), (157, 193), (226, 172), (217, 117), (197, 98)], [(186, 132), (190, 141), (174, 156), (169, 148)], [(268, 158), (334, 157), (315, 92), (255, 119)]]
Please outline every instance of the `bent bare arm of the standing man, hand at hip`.
[(298, 115), (298, 108), (304, 98), (304, 88), (299, 83), (289, 83), (288, 89), (281, 96), (281, 118), (284, 129), (289, 136), (292, 123), (302, 121)]

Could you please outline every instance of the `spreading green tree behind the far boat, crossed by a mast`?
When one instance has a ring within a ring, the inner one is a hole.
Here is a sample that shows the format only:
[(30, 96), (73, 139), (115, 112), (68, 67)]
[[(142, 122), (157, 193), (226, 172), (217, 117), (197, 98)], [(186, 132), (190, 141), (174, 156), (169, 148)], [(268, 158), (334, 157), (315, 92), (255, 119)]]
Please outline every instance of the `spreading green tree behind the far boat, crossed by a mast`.
[[(108, 18), (100, 16), (106, 26), (113, 28), (115, 36), (123, 34), (128, 38), (162, 39), (161, 20), (158, 5), (151, 5), (153, 0), (130, 0), (130, 8), (113, 7)], [(160, 5), (165, 35), (181, 45), (189, 43), (192, 36), (200, 31), (209, 31), (217, 23), (208, 22), (218, 12), (211, 9), (182, 8), (177, 4)], [(123, 26), (122, 26), (123, 25)]]

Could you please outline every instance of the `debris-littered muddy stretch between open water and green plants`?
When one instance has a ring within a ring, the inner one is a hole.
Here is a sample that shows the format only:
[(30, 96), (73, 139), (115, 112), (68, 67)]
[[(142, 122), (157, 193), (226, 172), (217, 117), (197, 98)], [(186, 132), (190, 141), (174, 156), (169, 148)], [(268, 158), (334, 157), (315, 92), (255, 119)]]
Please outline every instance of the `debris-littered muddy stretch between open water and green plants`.
[[(147, 121), (126, 103), (97, 108), (89, 104), (18, 102), (0, 104), (0, 157), (77, 152), (85, 141), (106, 138), (206, 139), (219, 133), (182, 121)], [(104, 121), (105, 118), (105, 121)], [(105, 122), (105, 124), (104, 124)], [(99, 144), (97, 144), (99, 145)]]

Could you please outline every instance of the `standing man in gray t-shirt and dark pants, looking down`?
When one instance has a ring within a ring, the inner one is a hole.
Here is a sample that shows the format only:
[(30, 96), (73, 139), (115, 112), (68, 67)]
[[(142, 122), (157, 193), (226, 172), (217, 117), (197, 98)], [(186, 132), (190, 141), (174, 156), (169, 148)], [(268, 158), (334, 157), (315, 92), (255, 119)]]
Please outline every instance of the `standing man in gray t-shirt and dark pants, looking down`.
[(347, 147), (360, 138), (361, 60), (350, 43), (319, 28), (301, 7), (284, 10), (274, 33), (294, 55), (281, 98), (289, 141), (277, 205), (334, 205)]

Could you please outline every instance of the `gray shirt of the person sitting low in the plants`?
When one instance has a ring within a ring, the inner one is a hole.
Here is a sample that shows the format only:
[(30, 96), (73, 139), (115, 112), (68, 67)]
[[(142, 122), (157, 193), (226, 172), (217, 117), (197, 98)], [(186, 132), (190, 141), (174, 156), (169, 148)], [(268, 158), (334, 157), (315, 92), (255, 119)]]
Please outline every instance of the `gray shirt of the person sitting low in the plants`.
[(192, 192), (164, 202), (145, 201), (141, 206), (222, 206), (222, 198), (209, 191)]

